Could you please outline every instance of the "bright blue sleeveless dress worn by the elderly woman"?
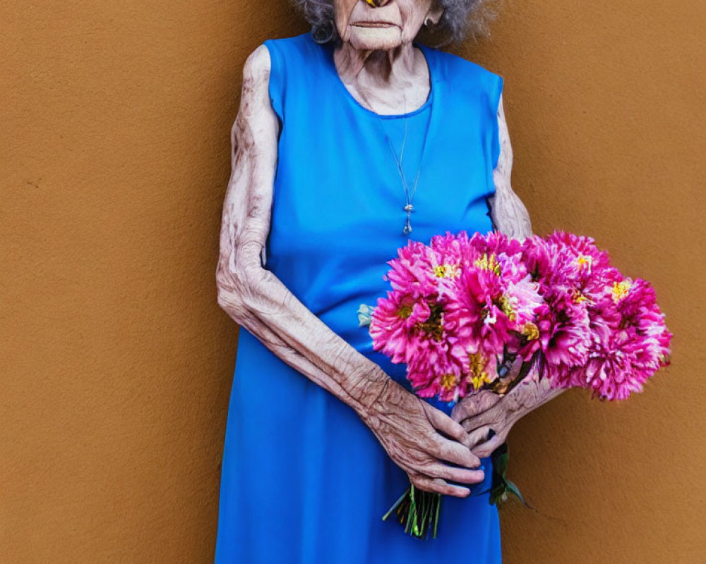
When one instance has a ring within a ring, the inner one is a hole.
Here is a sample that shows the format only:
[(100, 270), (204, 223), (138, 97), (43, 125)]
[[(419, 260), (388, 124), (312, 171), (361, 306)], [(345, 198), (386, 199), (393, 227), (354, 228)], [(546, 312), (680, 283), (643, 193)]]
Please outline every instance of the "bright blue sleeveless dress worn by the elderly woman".
[[(386, 262), (407, 238), (429, 243), (445, 231), (491, 231), (486, 198), (495, 191), (503, 79), (415, 42), (429, 65), (429, 99), (378, 119), (340, 80), (330, 45), (309, 32), (265, 45), (281, 125), (265, 268), (411, 390), (405, 366), (372, 350), (356, 312), (385, 295)], [(410, 191), (424, 148), (409, 235), (402, 234), (405, 192), (384, 136), (399, 156), (405, 117)], [(445, 403), (426, 401), (450, 413)], [(469, 497), (443, 496), (437, 538), (410, 537), (394, 515), (381, 518), (409, 486), (407, 474), (351, 407), (240, 328), (215, 564), (500, 563), (491, 460), (482, 462), (484, 482)]]

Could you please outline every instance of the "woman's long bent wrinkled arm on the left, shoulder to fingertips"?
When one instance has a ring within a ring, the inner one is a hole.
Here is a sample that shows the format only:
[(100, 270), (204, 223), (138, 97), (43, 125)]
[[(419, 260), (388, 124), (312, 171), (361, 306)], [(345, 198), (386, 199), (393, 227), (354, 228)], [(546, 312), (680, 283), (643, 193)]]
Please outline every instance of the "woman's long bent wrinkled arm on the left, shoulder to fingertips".
[(244, 66), (232, 135), (233, 167), (216, 269), (218, 304), (277, 357), (350, 405), (413, 484), (463, 497), (469, 489), (445, 479), (477, 483), (483, 472), (441, 462), (479, 466), (480, 460), (465, 444), (468, 436), (463, 427), (390, 379), (263, 267), (279, 128), (270, 106), (269, 75), (269, 51), (261, 45)]

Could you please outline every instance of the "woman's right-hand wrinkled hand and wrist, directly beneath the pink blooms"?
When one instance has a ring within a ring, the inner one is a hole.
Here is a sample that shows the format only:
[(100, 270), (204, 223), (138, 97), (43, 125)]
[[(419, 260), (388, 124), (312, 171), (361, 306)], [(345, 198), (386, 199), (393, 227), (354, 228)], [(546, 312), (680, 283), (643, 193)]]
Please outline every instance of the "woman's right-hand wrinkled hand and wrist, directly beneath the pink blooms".
[[(508, 379), (517, 374), (520, 364), (520, 360), (513, 364)], [(549, 379), (539, 379), (533, 368), (504, 396), (486, 390), (464, 398), (454, 407), (451, 417), (467, 431), (472, 453), (486, 458), (505, 442), (515, 422), (563, 391), (564, 388), (551, 388)]]

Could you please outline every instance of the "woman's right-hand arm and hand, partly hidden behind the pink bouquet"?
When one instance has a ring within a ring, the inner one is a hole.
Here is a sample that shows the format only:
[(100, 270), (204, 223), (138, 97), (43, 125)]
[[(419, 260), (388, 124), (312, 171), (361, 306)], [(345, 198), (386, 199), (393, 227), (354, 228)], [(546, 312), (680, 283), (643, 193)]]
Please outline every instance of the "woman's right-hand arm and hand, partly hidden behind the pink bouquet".
[[(525, 204), (522, 204), (510, 185), (513, 147), (505, 121), (502, 94), (498, 104), (498, 137), (500, 157), (493, 171), (496, 191), (488, 200), (493, 228), (509, 237), (525, 240), (532, 236), (532, 223)], [(513, 367), (513, 373), (516, 374), (519, 364), (520, 360)], [(471, 443), (476, 445), (473, 453), (484, 458), (505, 442), (518, 419), (556, 398), (563, 391), (563, 388), (549, 388), (547, 380), (540, 380), (537, 371), (532, 369), (525, 380), (505, 396), (498, 396), (491, 391), (468, 396), (454, 407), (451, 417), (460, 422), (471, 435)], [(491, 429), (494, 434), (488, 440)]]

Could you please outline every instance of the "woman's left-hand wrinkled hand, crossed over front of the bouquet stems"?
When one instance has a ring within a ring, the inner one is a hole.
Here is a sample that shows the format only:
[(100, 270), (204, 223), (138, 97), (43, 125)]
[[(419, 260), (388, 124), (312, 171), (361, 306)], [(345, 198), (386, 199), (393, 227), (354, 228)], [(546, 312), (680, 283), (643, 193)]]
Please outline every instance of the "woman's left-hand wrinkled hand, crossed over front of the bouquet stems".
[[(465, 429), (441, 410), (436, 409), (388, 379), (371, 407), (362, 416), (390, 458), (407, 472), (415, 487), (426, 491), (465, 497), (468, 488), (445, 482), (477, 484), (484, 479), (479, 458), (469, 450)], [(447, 438), (443, 434), (448, 435)], [(442, 462), (455, 462), (466, 468)]]

